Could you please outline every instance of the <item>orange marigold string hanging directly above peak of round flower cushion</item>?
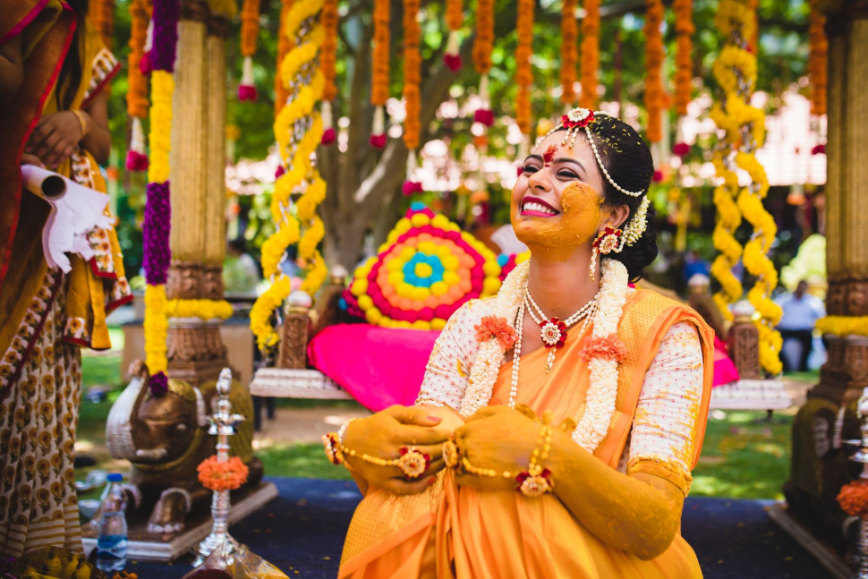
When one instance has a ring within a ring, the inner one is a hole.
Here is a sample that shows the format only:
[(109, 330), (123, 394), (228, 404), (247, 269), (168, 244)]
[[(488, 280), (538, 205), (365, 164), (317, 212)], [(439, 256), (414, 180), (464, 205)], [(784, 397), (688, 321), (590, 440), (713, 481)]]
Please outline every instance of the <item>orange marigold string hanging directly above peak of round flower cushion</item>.
[(404, 145), (407, 155), (407, 178), (404, 181), (404, 195), (421, 192), (421, 183), (414, 181), (416, 172), (416, 149), (419, 148), (419, 109), (421, 84), (421, 27), (419, 26), (420, 0), (404, 0)]

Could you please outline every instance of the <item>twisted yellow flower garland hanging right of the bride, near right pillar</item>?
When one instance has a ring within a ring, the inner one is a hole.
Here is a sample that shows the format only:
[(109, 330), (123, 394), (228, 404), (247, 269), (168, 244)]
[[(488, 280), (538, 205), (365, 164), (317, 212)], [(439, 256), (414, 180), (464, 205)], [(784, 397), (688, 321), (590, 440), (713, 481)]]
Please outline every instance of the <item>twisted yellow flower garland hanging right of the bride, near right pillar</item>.
[[(778, 285), (778, 273), (767, 256), (777, 226), (762, 206), (769, 182), (755, 157), (765, 137), (765, 116), (750, 105), (756, 83), (756, 55), (749, 47), (756, 34), (755, 4), (750, 0), (721, 0), (715, 23), (728, 37), (727, 46), (720, 51), (713, 66), (714, 76), (725, 96), (721, 103), (712, 107), (711, 118), (726, 132), (711, 158), (723, 181), (714, 193), (719, 217), (712, 241), (721, 252), (711, 265), (711, 273), (721, 285), (715, 301), (725, 315), (731, 316), (728, 304), (740, 299), (743, 291), (731, 269), (741, 257), (747, 271), (756, 277), (747, 299), (760, 314), (760, 319), (754, 322), (760, 337), (760, 362), (770, 374), (779, 374), (782, 340), (775, 327), (781, 310), (771, 301), (771, 292)], [(739, 187), (736, 168), (751, 177), (750, 185), (744, 190)], [(733, 235), (741, 216), (753, 226), (753, 235), (744, 249)]]

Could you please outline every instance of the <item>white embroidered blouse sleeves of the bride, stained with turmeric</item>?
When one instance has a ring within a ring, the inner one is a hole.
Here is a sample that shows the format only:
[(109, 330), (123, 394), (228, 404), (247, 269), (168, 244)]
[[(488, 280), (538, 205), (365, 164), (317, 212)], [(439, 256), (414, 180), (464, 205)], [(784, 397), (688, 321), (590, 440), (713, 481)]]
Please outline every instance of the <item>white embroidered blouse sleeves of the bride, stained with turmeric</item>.
[[(484, 301), (468, 302), (447, 322), (431, 353), (416, 404), (461, 408), (467, 376), (479, 350), (473, 326), (489, 315)], [(702, 347), (688, 322), (668, 329), (645, 372), (630, 440), (618, 470), (648, 470), (687, 494), (697, 413), (702, 395)]]

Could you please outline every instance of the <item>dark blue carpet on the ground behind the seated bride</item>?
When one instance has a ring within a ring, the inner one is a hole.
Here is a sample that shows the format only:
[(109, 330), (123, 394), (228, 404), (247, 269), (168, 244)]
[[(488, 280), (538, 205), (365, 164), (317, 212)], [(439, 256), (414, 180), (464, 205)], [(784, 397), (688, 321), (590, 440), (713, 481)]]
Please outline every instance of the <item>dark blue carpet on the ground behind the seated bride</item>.
[[(230, 531), (290, 577), (337, 575), (341, 546), (361, 495), (352, 481), (270, 479), (280, 496)], [(706, 579), (827, 579), (822, 567), (773, 524), (765, 501), (687, 498), (682, 532)], [(131, 562), (141, 579), (178, 579), (174, 565)], [(409, 579), (409, 578), (408, 578)]]

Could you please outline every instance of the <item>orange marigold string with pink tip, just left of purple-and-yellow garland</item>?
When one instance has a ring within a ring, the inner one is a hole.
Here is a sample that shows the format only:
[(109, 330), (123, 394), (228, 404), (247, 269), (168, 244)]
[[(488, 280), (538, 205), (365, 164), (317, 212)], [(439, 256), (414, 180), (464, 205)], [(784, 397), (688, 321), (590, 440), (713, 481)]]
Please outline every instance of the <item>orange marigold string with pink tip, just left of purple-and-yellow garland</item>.
[(130, 147), (126, 152), (127, 171), (147, 171), (148, 153), (141, 121), (148, 116), (148, 77), (140, 70), (145, 53), (150, 16), (145, 0), (133, 0), (130, 5), (130, 55), (127, 58), (127, 78), (130, 88), (126, 93), (126, 114), (132, 118)]

